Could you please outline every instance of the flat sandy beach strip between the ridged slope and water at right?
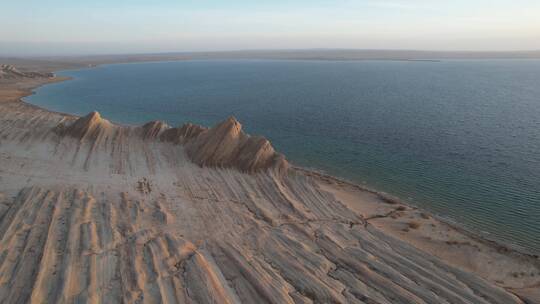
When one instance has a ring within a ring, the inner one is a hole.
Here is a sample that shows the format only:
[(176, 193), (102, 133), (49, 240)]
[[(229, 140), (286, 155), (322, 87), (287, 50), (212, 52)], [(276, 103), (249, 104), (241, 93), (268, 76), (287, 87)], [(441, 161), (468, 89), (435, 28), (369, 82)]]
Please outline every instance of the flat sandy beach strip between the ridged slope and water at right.
[[(321, 178), (319, 185), (385, 233), (404, 240), (445, 262), (514, 292), (540, 299), (540, 260), (482, 239), (399, 202), (348, 182)], [(535, 300), (533, 300), (535, 299)]]

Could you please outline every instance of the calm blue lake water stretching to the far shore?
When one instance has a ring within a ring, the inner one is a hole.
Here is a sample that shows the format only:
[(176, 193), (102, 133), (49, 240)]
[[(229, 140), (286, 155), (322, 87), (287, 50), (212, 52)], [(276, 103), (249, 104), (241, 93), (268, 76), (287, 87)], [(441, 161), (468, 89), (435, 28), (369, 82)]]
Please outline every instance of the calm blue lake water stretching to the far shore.
[(234, 115), (294, 164), (540, 252), (540, 60), (181, 61), (61, 72), (27, 101), (116, 122)]

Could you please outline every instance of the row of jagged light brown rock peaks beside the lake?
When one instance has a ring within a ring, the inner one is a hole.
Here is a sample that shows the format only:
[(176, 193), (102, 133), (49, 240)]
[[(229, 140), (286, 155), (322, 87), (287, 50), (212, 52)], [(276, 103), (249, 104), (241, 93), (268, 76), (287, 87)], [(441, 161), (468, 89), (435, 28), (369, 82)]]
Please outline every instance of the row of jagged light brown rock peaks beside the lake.
[[(107, 142), (130, 133), (129, 127), (120, 127), (92, 112), (73, 123), (57, 127), (59, 134), (80, 140)], [(260, 136), (249, 136), (233, 117), (207, 129), (194, 124), (171, 128), (161, 121), (151, 121), (135, 128), (144, 140), (161, 140), (185, 147), (187, 156), (202, 167), (235, 168), (255, 173), (268, 169), (286, 171), (288, 163), (270, 142)], [(123, 134), (123, 135), (122, 135)]]

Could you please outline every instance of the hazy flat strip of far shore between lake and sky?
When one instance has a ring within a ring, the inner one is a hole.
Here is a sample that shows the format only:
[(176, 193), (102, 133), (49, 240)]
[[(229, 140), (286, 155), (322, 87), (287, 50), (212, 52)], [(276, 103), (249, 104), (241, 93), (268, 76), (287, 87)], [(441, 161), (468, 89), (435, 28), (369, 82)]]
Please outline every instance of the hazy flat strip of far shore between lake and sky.
[(291, 49), (236, 50), (216, 52), (170, 52), (112, 55), (69, 56), (0, 56), (0, 63), (9, 63), (27, 70), (58, 71), (93, 67), (101, 64), (182, 61), (204, 59), (277, 59), (277, 60), (398, 60), (438, 61), (452, 59), (540, 59), (536, 51), (421, 51), (370, 49)]

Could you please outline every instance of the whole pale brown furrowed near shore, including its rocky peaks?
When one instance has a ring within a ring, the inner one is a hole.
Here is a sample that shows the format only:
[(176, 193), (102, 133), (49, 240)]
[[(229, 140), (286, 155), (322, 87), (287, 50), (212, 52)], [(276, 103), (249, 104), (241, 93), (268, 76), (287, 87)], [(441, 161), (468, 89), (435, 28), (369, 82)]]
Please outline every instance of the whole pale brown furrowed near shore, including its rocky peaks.
[(234, 119), (116, 125), (0, 83), (1, 303), (538, 303), (538, 259), (291, 167)]

